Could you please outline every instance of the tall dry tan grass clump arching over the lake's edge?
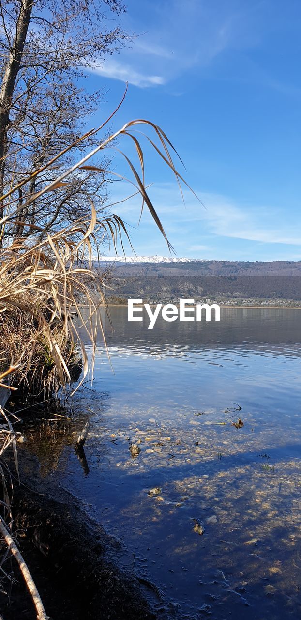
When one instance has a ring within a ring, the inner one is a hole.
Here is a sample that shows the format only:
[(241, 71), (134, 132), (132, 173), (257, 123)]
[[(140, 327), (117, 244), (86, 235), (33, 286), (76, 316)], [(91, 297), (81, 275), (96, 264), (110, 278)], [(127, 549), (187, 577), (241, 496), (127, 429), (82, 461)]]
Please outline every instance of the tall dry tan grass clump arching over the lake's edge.
[[(103, 125), (97, 130), (90, 131), (89, 135), (95, 135), (102, 127)], [(139, 131), (136, 132), (136, 128), (139, 128)], [(150, 137), (146, 131), (141, 131), (141, 128), (144, 128), (144, 130), (150, 129), (154, 133), (155, 138), (157, 138), (157, 143), (155, 143), (153, 136)], [(139, 135), (139, 139), (137, 135)], [(181, 182), (185, 183), (185, 180), (175, 168), (172, 159), (172, 153), (175, 153), (175, 149), (164, 131), (159, 126), (146, 120), (134, 120), (126, 123), (123, 128), (105, 140), (100, 141), (100, 144), (93, 151), (87, 153), (81, 161), (74, 164), (74, 166), (66, 170), (64, 174), (60, 175), (53, 182), (43, 187), (33, 197), (30, 197), (22, 205), (22, 209), (24, 210), (33, 202), (37, 204), (39, 198), (45, 192), (55, 192), (58, 188), (61, 190), (65, 184), (68, 185), (68, 177), (76, 169), (99, 170), (103, 174), (103, 169), (98, 169), (97, 166), (90, 164), (90, 159), (99, 151), (113, 148), (124, 157), (132, 178), (125, 179), (125, 177), (118, 175), (116, 172), (111, 174), (117, 179), (126, 180), (134, 187), (134, 192), (141, 195), (141, 215), (146, 206), (155, 224), (162, 232), (168, 249), (172, 251), (172, 246), (167, 239), (160, 218), (145, 186), (144, 153), (141, 146), (141, 136), (144, 136), (147, 143), (155, 149), (162, 161), (172, 170), (181, 188)], [(134, 166), (133, 161), (119, 148), (119, 143), (124, 138), (131, 141), (134, 145), (139, 168)], [(33, 177), (38, 178), (38, 175), (47, 168), (51, 170), (59, 157), (63, 156), (69, 149), (76, 148), (81, 139), (79, 138), (77, 143), (64, 149), (62, 153), (48, 162), (46, 166), (34, 172), (30, 179)], [(118, 139), (118, 148), (115, 146), (116, 139)], [(26, 185), (27, 182), (28, 179), (24, 179), (0, 198), (0, 201), (4, 204), (5, 213), (2, 220), (0, 220), (2, 239), (4, 239), (5, 229), (9, 228), (11, 223), (17, 218), (19, 208), (14, 208), (14, 205), (17, 203), (20, 186)], [(22, 226), (25, 229), (27, 226), (32, 226), (32, 224), (25, 221)], [(39, 234), (43, 234), (43, 231), (38, 229), (37, 226), (32, 226), (32, 228), (34, 229), (33, 233), (38, 231)], [(0, 363), (2, 368), (8, 364), (18, 366), (15, 377), (17, 377), (18, 382), (21, 381), (22, 385), (27, 383), (28, 387), (30, 387), (30, 371), (33, 372), (35, 365), (37, 365), (35, 352), (37, 352), (38, 348), (43, 348), (41, 347), (43, 343), (45, 344), (45, 352), (49, 352), (50, 363), (53, 364), (51, 379), (56, 376), (56, 379), (63, 385), (66, 384), (66, 381), (70, 381), (71, 374), (68, 368), (68, 355), (71, 349), (68, 343), (69, 341), (71, 343), (74, 342), (74, 337), (81, 347), (84, 370), (83, 379), (85, 378), (88, 371), (85, 347), (81, 342), (79, 334), (76, 332), (76, 327), (72, 324), (72, 321), (68, 320), (72, 306), (76, 306), (77, 312), (81, 316), (81, 309), (78, 303), (79, 298), (85, 299), (85, 303), (90, 308), (90, 318), (84, 322), (84, 329), (92, 343), (93, 365), (97, 332), (99, 330), (103, 332), (99, 308), (105, 304), (102, 277), (97, 276), (93, 269), (94, 255), (99, 251), (97, 239), (99, 239), (100, 232), (103, 238), (110, 239), (115, 248), (118, 239), (121, 239), (122, 244), (122, 237), (128, 235), (126, 224), (118, 215), (103, 215), (97, 219), (97, 213), (91, 201), (89, 217), (79, 219), (72, 226), (61, 231), (47, 232), (42, 241), (37, 244), (34, 242), (35, 237), (32, 236), (29, 238), (29, 241), (28, 239), (24, 239), (24, 241), (19, 239), (18, 241), (11, 242), (11, 244), (8, 243), (6, 247), (3, 245), (0, 247)], [(9, 334), (14, 321), (18, 338), (14, 339), (9, 349), (5, 351), (5, 348), (1, 347), (1, 334), (3, 337), (6, 334), (6, 342), (9, 343)], [(24, 339), (22, 338), (23, 330)], [(23, 347), (24, 343), (26, 344), (25, 347)], [(36, 389), (36, 384), (37, 381), (33, 381), (34, 389)], [(41, 387), (43, 384), (46, 385), (45, 376), (41, 378)]]

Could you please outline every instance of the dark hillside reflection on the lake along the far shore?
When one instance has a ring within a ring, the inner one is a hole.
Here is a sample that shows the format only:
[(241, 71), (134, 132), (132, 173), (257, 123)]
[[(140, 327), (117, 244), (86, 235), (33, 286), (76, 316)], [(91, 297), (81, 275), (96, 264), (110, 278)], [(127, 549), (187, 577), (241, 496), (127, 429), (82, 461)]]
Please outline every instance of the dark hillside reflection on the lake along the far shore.
[(299, 355), (301, 350), (301, 310), (221, 308), (220, 321), (165, 322), (158, 317), (154, 329), (149, 321), (128, 322), (127, 309), (110, 308), (114, 332), (107, 321), (106, 335), (111, 346), (137, 353), (173, 352), (194, 354), (209, 349), (227, 353), (248, 350), (276, 355)]

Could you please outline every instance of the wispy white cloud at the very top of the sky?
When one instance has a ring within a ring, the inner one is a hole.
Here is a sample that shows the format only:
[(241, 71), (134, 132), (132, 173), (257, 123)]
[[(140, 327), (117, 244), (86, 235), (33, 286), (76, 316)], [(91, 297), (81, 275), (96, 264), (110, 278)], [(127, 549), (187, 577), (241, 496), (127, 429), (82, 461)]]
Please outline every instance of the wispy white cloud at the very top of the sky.
[(212, 7), (208, 0), (144, 0), (141, 11), (140, 0), (133, 0), (124, 18), (128, 29), (139, 33), (133, 46), (124, 47), (118, 60), (107, 57), (90, 70), (144, 88), (206, 66), (240, 40), (240, 15), (235, 0), (229, 2), (225, 7), (224, 0), (217, 0)]

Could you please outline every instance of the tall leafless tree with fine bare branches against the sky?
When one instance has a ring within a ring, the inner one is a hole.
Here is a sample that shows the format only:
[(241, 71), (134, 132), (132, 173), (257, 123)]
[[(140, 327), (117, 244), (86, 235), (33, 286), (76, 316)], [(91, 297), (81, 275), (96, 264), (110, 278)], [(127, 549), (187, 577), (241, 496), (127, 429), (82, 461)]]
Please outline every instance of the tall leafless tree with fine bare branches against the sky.
[[(84, 133), (87, 117), (102, 100), (101, 91), (85, 92), (86, 71), (129, 40), (116, 22), (123, 11), (121, 0), (0, 0), (1, 195)], [(91, 171), (74, 174), (64, 193), (24, 206), (92, 144), (83, 140), (39, 175), (38, 186), (31, 179), (20, 188), (19, 215), (6, 226), (10, 236), (33, 234), (37, 224), (48, 231), (77, 219), (87, 211), (88, 189), (97, 210), (103, 208), (105, 174), (99, 178)], [(107, 169), (106, 164), (100, 167)], [(9, 201), (0, 202), (0, 219), (10, 208)]]

